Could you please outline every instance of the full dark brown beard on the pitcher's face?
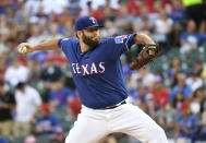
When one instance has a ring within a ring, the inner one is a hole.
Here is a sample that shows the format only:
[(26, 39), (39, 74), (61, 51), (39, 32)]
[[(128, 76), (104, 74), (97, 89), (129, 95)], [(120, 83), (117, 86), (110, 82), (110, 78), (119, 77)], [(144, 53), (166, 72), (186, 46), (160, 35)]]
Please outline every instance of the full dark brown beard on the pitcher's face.
[(83, 32), (83, 41), (94, 49), (100, 44), (100, 36), (93, 39), (93, 37), (86, 36)]

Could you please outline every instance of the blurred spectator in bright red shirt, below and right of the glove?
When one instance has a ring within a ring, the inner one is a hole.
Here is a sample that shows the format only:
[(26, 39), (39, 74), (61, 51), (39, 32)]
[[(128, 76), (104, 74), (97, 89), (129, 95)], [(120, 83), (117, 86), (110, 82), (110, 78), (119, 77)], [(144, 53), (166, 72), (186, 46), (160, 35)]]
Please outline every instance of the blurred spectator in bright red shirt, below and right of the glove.
[(150, 94), (154, 96), (155, 105), (161, 107), (168, 104), (169, 91), (163, 87), (162, 79), (160, 76), (155, 78), (154, 88)]

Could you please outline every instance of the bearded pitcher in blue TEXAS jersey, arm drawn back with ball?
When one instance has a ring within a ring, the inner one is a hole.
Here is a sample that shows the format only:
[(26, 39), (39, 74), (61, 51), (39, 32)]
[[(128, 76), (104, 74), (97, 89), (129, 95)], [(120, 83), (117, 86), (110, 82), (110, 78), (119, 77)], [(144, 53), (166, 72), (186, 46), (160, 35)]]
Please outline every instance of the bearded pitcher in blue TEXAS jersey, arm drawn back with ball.
[(105, 135), (122, 132), (143, 143), (168, 143), (165, 131), (138, 107), (126, 103), (129, 93), (123, 81), (121, 53), (133, 44), (145, 45), (132, 61), (140, 69), (158, 53), (158, 45), (145, 34), (135, 33), (100, 39), (100, 25), (92, 16), (75, 24), (77, 38), (52, 39), (36, 46), (19, 45), (22, 53), (36, 50), (62, 50), (83, 103), (82, 111), (65, 143), (98, 143)]

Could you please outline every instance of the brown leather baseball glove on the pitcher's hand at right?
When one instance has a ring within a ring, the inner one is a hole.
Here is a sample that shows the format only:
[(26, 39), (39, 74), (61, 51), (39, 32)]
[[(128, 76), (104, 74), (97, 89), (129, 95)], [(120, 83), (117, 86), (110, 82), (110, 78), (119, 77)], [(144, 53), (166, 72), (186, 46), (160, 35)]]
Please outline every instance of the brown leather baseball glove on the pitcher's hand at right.
[(157, 56), (158, 52), (159, 52), (159, 45), (155, 45), (155, 44), (144, 45), (141, 52), (134, 58), (134, 60), (130, 64), (130, 69), (131, 70), (141, 69), (142, 67), (153, 61), (153, 59)]

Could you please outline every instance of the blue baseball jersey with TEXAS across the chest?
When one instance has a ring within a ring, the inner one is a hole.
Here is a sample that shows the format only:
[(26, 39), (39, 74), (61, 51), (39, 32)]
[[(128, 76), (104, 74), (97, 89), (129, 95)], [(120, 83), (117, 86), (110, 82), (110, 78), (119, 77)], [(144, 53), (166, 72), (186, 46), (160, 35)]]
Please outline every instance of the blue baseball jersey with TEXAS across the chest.
[(71, 63), (73, 80), (84, 106), (105, 108), (129, 96), (120, 56), (134, 44), (134, 35), (102, 39), (98, 47), (86, 52), (81, 52), (77, 38), (59, 39), (59, 46)]

